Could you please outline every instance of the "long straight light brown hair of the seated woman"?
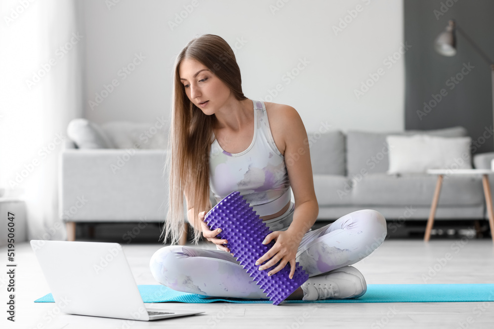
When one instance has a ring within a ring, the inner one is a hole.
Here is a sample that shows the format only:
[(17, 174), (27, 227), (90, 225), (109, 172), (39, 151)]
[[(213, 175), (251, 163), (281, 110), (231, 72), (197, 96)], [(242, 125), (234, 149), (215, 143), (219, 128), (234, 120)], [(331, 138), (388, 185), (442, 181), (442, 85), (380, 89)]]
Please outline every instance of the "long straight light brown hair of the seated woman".
[[(197, 245), (202, 236), (198, 215), (211, 208), (209, 201), (209, 152), (216, 117), (206, 115), (194, 105), (180, 81), (179, 66), (184, 59), (194, 59), (221, 79), (239, 101), (247, 99), (242, 92), (242, 78), (235, 54), (219, 36), (205, 34), (192, 39), (178, 54), (174, 65), (173, 100), (165, 172), (169, 180), (168, 212), (161, 237), (164, 243), (178, 243), (184, 228), (184, 191), (193, 191), (194, 237)], [(161, 238), (160, 237), (160, 238)]]

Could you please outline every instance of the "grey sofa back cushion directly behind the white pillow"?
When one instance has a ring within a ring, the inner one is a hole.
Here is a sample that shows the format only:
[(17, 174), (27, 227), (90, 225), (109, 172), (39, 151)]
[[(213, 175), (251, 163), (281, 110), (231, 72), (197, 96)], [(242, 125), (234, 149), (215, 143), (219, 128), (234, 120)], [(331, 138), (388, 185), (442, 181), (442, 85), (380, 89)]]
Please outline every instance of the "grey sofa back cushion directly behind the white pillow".
[(408, 130), (405, 132), (365, 132), (348, 131), (346, 136), (346, 164), (348, 175), (367, 173), (386, 173), (389, 168), (389, 146), (386, 143), (388, 135), (426, 134), (441, 137), (463, 137), (467, 131), (463, 127), (453, 127), (438, 130)]

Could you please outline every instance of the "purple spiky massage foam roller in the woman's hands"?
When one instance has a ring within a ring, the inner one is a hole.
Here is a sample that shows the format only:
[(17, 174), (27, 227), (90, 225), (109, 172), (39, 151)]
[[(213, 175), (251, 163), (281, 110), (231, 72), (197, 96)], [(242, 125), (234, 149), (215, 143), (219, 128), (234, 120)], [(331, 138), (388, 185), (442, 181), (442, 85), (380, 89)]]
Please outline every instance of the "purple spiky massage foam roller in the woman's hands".
[(222, 229), (216, 237), (228, 241), (225, 246), (240, 261), (250, 277), (268, 295), (274, 305), (280, 304), (309, 278), (298, 262), (295, 263), (293, 279), (289, 278), (289, 263), (272, 276), (268, 276), (268, 272), (278, 266), (279, 262), (269, 269), (258, 270), (260, 265), (255, 265), (255, 261), (266, 254), (275, 241), (266, 245), (262, 244), (271, 230), (259, 218), (259, 215), (255, 214), (240, 192), (236, 191), (226, 196), (206, 214), (204, 220), (211, 231), (217, 228)]

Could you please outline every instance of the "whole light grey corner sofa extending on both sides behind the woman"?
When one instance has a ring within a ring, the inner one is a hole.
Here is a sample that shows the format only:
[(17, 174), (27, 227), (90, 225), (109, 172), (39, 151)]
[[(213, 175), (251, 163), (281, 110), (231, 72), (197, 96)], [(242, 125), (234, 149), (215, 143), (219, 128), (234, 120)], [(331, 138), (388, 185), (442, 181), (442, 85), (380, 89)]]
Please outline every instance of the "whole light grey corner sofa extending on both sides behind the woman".
[[(118, 129), (115, 126), (106, 132), (110, 137), (109, 143), (113, 145), (77, 148), (76, 143), (67, 141), (60, 154), (59, 214), (67, 223), (69, 240), (75, 239), (77, 222), (132, 221), (146, 224), (165, 219), (165, 141), (161, 142), (161, 149), (116, 148), (130, 144), (124, 144), (120, 137), (116, 137)], [(386, 136), (417, 133), (466, 136), (462, 127), (427, 132), (308, 132), (320, 207), (318, 220), (338, 219), (360, 209), (377, 210), (389, 220), (427, 219), (436, 176), (386, 174)], [(476, 168), (490, 168), (493, 158), (494, 153), (478, 154), (473, 162)], [(436, 219), (486, 218), (480, 178), (445, 179)]]

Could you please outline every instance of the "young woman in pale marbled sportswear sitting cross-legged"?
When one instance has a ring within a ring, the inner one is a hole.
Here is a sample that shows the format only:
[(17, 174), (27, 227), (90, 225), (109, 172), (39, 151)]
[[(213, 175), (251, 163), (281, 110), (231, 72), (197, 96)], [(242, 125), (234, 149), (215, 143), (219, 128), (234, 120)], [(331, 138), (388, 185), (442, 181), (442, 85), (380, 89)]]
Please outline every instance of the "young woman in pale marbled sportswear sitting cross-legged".
[[(240, 191), (273, 231), (265, 243), (275, 244), (258, 259), (259, 270), (272, 275), (289, 264), (291, 278), (298, 261), (309, 274), (287, 299), (363, 295), (366, 281), (349, 265), (379, 246), (386, 220), (377, 211), (360, 210), (311, 230), (319, 208), (307, 140), (294, 108), (244, 96), (235, 55), (223, 38), (191, 40), (175, 62), (169, 204), (162, 234), (165, 241), (171, 236), (172, 245), (152, 256), (155, 279), (203, 297), (268, 299), (225, 246), (228, 241), (216, 238), (220, 229), (211, 231), (204, 222), (210, 192), (218, 202)], [(194, 243), (202, 235), (217, 250), (174, 245), (184, 228), (184, 195)]]

